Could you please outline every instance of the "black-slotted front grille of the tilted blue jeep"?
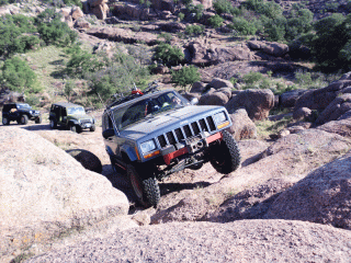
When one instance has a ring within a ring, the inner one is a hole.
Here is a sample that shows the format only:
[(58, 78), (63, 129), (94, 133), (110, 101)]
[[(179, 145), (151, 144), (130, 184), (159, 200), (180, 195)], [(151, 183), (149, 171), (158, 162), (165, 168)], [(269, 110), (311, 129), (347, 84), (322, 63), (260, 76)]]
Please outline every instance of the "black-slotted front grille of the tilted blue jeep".
[(157, 138), (160, 146), (165, 147), (167, 145), (176, 145), (178, 141), (199, 135), (201, 132), (214, 130), (216, 130), (215, 123), (213, 122), (212, 116), (208, 116), (193, 122), (190, 125), (186, 124), (180, 128), (162, 134)]

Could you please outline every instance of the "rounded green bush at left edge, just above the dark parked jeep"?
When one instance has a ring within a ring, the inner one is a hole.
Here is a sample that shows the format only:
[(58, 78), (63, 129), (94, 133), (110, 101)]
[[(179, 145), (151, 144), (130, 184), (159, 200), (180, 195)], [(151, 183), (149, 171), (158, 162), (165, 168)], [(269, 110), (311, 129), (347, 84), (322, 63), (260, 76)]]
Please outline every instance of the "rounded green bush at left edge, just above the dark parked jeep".
[(38, 91), (36, 75), (24, 60), (18, 57), (7, 59), (1, 70), (1, 88), (21, 93)]

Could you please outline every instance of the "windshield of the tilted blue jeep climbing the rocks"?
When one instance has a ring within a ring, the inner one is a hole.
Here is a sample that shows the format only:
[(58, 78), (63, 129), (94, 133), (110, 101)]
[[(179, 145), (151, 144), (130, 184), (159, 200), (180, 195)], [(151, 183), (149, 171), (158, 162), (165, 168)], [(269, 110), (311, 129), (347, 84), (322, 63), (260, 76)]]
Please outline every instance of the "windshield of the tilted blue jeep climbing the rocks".
[(155, 116), (157, 114), (172, 111), (189, 104), (189, 101), (174, 91), (155, 94), (125, 107), (117, 108), (114, 112), (115, 122), (118, 129), (137, 123), (145, 117)]

